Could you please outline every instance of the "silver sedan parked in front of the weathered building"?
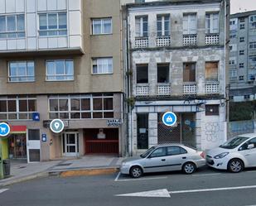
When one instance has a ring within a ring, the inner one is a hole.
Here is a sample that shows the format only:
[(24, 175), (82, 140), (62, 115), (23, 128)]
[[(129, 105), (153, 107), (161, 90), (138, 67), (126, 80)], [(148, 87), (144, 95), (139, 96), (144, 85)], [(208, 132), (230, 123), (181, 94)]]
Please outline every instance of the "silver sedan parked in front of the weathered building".
[(120, 172), (138, 178), (147, 172), (182, 170), (192, 174), (205, 165), (204, 153), (181, 144), (152, 146), (138, 157), (123, 160)]

